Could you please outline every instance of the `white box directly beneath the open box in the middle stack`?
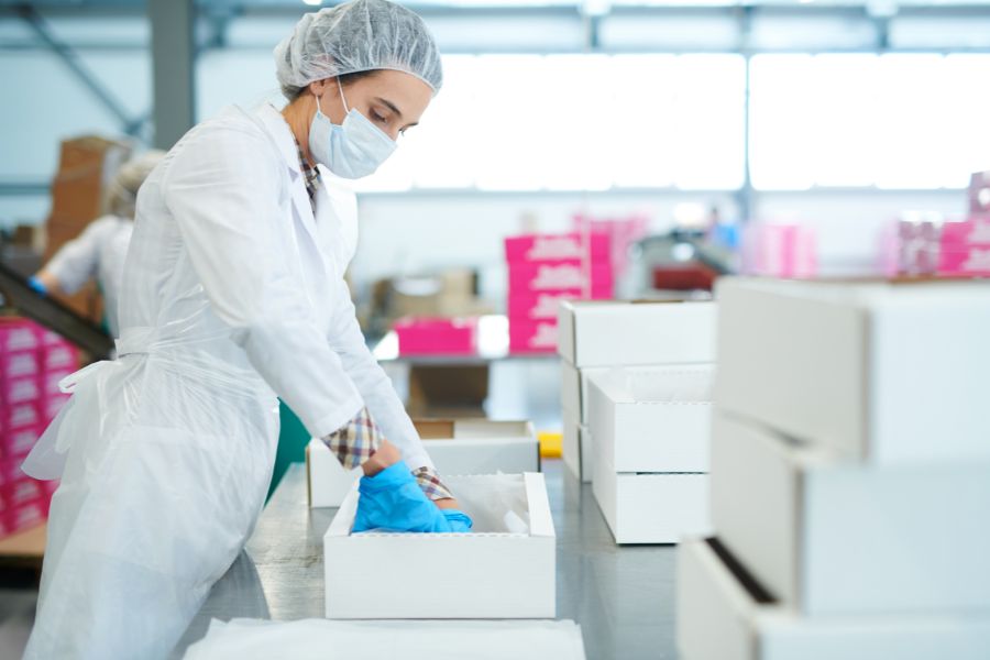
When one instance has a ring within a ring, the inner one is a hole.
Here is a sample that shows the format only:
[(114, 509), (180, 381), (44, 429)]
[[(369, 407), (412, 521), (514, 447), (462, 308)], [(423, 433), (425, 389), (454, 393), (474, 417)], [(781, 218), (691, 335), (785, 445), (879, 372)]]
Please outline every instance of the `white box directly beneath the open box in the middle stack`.
[(616, 543), (676, 543), (707, 534), (707, 474), (618, 474), (595, 448), (592, 492)]

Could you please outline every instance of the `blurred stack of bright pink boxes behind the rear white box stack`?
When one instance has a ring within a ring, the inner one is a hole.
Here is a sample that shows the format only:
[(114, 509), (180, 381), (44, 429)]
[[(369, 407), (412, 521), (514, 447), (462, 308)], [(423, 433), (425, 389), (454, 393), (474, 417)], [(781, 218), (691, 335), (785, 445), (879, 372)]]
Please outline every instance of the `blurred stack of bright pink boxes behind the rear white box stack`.
[(505, 240), (508, 262), (509, 351), (557, 350), (561, 300), (605, 300), (615, 271), (607, 234), (526, 234)]

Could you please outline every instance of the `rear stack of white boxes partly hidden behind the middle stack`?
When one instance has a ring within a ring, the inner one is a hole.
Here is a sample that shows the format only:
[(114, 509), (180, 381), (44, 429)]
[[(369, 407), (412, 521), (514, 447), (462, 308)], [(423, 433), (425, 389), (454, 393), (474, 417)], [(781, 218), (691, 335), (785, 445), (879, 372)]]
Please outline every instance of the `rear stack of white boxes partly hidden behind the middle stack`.
[(563, 410), (563, 459), (592, 481), (588, 378), (617, 366), (711, 364), (715, 361), (715, 304), (566, 301), (560, 306), (558, 353)]

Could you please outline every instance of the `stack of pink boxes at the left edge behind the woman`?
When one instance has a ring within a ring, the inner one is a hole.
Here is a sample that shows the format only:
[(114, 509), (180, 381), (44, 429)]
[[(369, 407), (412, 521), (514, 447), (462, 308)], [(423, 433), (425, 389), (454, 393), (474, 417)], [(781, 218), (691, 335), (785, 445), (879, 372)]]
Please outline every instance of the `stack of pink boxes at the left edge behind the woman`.
[(58, 381), (78, 367), (75, 346), (21, 318), (0, 318), (0, 538), (45, 520), (56, 482), (21, 463), (69, 395)]

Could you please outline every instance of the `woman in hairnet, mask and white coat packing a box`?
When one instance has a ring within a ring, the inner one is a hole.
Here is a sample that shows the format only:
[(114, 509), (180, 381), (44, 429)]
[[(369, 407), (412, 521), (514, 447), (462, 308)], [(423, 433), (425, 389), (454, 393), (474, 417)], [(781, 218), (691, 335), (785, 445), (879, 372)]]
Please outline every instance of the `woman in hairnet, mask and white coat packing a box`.
[(435, 42), (413, 12), (356, 0), (307, 14), (275, 61), (283, 110), (227, 109), (142, 186), (119, 358), (63, 382), (24, 464), (62, 477), (25, 658), (170, 653), (261, 512), (276, 396), (363, 466), (362, 493), (387, 475), (419, 498), (377, 501), (367, 527), (470, 529), (361, 334), (343, 279), (356, 204), (327, 176), (371, 174), (419, 121)]

